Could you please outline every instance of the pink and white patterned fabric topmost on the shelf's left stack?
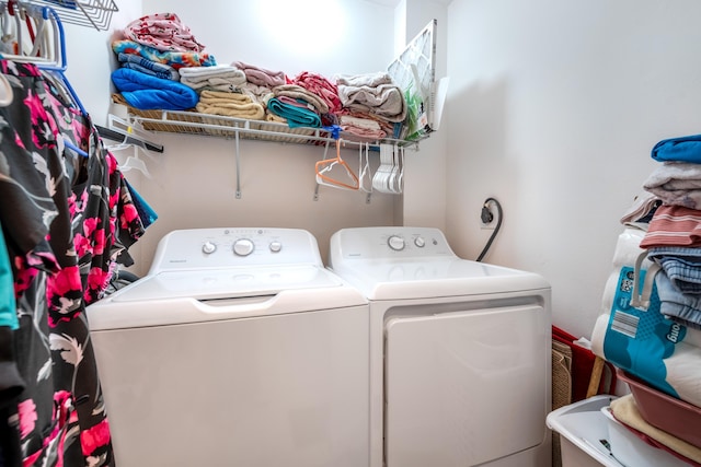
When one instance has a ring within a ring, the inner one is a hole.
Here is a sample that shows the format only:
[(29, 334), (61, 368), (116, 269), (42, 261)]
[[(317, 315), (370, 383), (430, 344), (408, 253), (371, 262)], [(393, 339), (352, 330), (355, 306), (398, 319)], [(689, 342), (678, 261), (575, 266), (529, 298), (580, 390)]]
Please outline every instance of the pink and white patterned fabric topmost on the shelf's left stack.
[(141, 16), (124, 28), (126, 38), (161, 51), (203, 51), (189, 27), (175, 13), (156, 13)]

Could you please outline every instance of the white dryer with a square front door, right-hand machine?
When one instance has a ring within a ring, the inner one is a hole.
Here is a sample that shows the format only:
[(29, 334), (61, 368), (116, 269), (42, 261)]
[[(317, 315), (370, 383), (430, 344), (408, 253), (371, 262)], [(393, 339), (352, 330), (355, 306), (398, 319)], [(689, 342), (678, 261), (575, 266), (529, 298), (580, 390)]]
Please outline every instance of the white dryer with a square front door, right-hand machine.
[(551, 290), (456, 256), (439, 230), (336, 232), (370, 301), (371, 467), (548, 467)]

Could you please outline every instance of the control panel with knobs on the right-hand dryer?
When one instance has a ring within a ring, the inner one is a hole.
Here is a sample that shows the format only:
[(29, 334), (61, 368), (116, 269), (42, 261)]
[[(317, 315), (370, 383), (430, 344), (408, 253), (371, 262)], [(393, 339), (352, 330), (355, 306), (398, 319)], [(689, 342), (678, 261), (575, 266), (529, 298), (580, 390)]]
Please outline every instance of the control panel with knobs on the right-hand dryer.
[(343, 229), (333, 234), (330, 248), (330, 258), (455, 256), (443, 232), (430, 227)]

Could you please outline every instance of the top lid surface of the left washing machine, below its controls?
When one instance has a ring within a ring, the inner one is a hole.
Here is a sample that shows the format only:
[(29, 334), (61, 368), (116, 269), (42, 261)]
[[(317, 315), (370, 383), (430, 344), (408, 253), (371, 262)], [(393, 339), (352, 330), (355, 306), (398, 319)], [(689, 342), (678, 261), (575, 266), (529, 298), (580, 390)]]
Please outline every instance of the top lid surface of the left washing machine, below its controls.
[(114, 302), (192, 297), (220, 300), (275, 295), (283, 290), (340, 287), (342, 281), (315, 266), (276, 266), (163, 271), (113, 294)]

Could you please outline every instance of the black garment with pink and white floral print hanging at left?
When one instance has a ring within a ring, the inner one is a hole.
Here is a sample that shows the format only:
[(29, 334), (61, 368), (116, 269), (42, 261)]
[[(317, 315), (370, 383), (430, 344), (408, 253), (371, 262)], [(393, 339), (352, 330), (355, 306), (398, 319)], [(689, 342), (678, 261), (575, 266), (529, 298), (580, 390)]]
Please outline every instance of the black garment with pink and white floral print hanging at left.
[[(0, 107), (0, 224), (19, 317), (0, 350), (14, 351), (24, 384), (19, 396), (0, 393), (10, 416), (0, 431), (16, 431), (24, 466), (113, 466), (84, 312), (117, 261), (131, 262), (126, 250), (145, 226), (115, 157), (60, 80), (9, 60), (0, 72), (14, 94)], [(0, 447), (4, 465), (16, 460), (11, 447)]]

